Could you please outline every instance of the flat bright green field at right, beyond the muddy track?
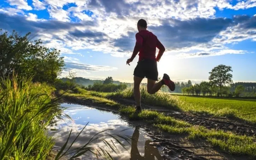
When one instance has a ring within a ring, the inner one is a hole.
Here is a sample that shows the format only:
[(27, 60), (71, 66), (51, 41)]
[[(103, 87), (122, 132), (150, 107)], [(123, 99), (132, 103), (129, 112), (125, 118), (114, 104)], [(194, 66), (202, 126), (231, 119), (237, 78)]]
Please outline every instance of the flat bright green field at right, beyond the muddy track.
[(185, 111), (206, 112), (216, 116), (238, 117), (256, 123), (256, 101), (232, 98), (205, 98), (179, 96), (182, 101), (192, 104)]

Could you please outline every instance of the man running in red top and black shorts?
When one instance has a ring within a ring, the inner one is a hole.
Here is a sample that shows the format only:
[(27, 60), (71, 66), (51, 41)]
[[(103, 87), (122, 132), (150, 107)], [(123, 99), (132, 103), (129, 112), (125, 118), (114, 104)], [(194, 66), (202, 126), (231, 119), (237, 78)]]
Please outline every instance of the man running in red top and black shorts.
[[(141, 111), (141, 95), (140, 95), (140, 83), (143, 78), (147, 78), (147, 92), (149, 94), (155, 94), (162, 85), (167, 85), (171, 91), (175, 90), (175, 84), (170, 80), (170, 77), (164, 73), (160, 82), (158, 80), (157, 62), (161, 59), (165, 48), (157, 37), (147, 31), (147, 22), (144, 19), (140, 19), (137, 23), (138, 33), (136, 33), (136, 43), (134, 46), (132, 57), (127, 59), (126, 64), (130, 65), (135, 56), (139, 52), (139, 61), (134, 69), (134, 98), (136, 101), (136, 110)], [(159, 49), (156, 57), (156, 47)]]

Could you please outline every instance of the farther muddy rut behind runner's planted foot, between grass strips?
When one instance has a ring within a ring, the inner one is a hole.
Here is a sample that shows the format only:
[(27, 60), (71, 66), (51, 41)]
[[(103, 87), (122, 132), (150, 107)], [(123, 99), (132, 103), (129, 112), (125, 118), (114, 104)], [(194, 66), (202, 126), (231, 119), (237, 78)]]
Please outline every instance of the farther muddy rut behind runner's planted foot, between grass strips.
[[(133, 100), (128, 99), (113, 99), (114, 101), (125, 104), (125, 105), (133, 105)], [(224, 118), (213, 118), (210, 116), (204, 115), (194, 115), (190, 113), (181, 113), (177, 111), (172, 111), (164, 107), (151, 106), (143, 104), (143, 109), (156, 110), (162, 112), (165, 115), (174, 117), (178, 120), (183, 120), (188, 123), (194, 125), (205, 126), (208, 129), (221, 129), (224, 131), (230, 131), (233, 133), (237, 133), (239, 135), (247, 135), (247, 136), (256, 136), (256, 126), (253, 124), (245, 124), (242, 122), (238, 122), (237, 120), (232, 119), (224, 119)]]

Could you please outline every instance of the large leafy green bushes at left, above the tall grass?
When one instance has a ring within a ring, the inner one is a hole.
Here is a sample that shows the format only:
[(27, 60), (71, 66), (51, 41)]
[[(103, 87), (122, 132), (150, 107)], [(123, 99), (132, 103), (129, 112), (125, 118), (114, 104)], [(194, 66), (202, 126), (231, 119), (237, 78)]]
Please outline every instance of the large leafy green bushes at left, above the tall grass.
[(33, 82), (54, 83), (63, 67), (60, 51), (41, 46), (40, 40), (29, 40), (30, 33), (18, 36), (13, 31), (0, 34), (0, 74), (12, 76), (15, 72), (19, 77), (33, 77)]

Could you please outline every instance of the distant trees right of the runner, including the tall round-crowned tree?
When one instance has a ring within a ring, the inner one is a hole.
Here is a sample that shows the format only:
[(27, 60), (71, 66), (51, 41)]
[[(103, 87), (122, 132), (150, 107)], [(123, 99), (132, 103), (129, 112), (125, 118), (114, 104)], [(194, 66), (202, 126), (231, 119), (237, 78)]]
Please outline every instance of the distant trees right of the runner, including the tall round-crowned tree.
[[(190, 80), (187, 83), (177, 82), (175, 92), (203, 96), (256, 96), (256, 83), (233, 83), (233, 76), (229, 72), (232, 72), (231, 66), (218, 65), (209, 72), (209, 82), (203, 81), (194, 85)], [(162, 87), (162, 91), (170, 92), (166, 86)]]

